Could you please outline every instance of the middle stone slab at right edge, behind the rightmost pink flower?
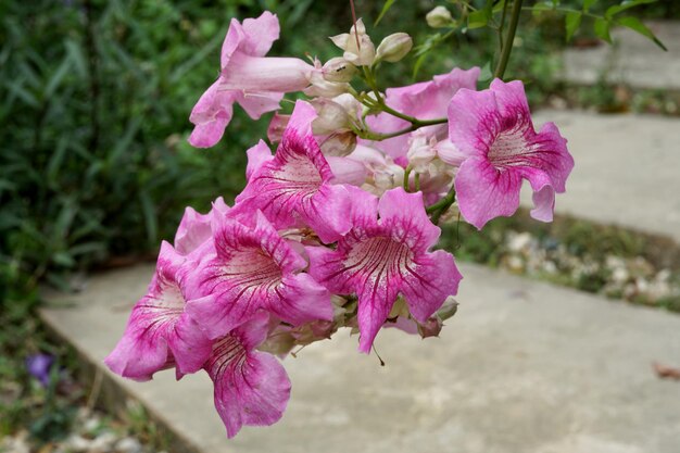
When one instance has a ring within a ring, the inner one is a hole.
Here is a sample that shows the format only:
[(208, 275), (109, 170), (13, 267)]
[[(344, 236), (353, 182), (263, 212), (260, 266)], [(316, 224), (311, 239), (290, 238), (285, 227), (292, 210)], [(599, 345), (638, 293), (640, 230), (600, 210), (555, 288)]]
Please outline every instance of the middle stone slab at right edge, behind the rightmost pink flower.
[[(556, 212), (669, 236), (680, 243), (680, 119), (575, 111), (540, 111), (534, 116), (537, 128), (547, 121), (568, 139), (576, 161), (567, 192), (557, 196)], [(522, 196), (530, 206), (530, 193)]]

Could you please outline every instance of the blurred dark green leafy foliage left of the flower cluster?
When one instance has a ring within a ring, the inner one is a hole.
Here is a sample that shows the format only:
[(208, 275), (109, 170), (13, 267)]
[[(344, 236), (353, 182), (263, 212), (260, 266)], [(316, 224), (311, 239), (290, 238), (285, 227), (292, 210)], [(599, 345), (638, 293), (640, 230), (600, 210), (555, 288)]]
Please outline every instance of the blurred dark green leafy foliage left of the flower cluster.
[(185, 204), (205, 207), (242, 184), (255, 136), (185, 144), (188, 113), (215, 77), (205, 62), (218, 61), (240, 2), (39, 3), (3, 2), (0, 14), (3, 288), (63, 284), (63, 270), (155, 249)]

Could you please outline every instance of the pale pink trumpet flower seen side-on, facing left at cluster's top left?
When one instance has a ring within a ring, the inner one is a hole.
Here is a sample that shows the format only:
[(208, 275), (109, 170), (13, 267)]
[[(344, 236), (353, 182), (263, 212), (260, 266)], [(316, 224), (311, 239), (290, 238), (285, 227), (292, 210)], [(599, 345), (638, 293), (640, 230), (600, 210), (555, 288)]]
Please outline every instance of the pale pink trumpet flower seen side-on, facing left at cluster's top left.
[(235, 102), (257, 119), (278, 110), (285, 92), (308, 85), (312, 65), (300, 59), (264, 58), (278, 36), (278, 18), (268, 11), (244, 20), (242, 25), (231, 20), (222, 46), (221, 75), (189, 116), (196, 125), (189, 137), (192, 146), (210, 148), (219, 141), (231, 121)]

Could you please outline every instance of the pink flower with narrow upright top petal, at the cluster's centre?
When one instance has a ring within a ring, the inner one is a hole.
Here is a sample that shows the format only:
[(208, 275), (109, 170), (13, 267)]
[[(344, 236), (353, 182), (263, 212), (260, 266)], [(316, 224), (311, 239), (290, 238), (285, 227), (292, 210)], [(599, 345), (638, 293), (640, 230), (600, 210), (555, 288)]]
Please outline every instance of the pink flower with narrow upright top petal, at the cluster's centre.
[[(335, 176), (314, 136), (314, 108), (298, 101), (273, 159), (257, 148), (249, 153), (252, 168), (237, 203), (242, 210), (262, 210), (277, 228), (306, 225), (324, 242), (333, 242), (350, 228), (350, 199)], [(257, 168), (255, 169), (255, 166)]]

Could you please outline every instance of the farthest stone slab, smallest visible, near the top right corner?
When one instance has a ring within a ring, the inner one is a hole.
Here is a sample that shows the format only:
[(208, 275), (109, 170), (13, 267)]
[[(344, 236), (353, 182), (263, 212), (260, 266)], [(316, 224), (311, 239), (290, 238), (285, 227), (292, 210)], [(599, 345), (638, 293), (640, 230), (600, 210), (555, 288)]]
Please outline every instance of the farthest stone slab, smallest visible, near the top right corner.
[(567, 50), (563, 55), (564, 78), (594, 85), (606, 75), (609, 83), (633, 88), (680, 89), (680, 22), (650, 22), (647, 26), (668, 52), (634, 32), (616, 28), (612, 33), (615, 46), (603, 42), (594, 48)]

